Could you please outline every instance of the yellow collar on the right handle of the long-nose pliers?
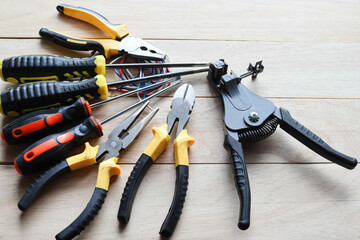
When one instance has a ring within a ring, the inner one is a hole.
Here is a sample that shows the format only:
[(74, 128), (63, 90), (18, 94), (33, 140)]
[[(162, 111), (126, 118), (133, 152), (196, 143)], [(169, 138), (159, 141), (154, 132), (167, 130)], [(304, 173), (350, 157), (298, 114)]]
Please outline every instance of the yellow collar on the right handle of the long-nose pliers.
[(98, 178), (96, 180), (96, 187), (104, 190), (109, 189), (110, 178), (114, 175), (120, 175), (121, 168), (117, 165), (118, 158), (109, 158), (108, 160), (100, 163)]

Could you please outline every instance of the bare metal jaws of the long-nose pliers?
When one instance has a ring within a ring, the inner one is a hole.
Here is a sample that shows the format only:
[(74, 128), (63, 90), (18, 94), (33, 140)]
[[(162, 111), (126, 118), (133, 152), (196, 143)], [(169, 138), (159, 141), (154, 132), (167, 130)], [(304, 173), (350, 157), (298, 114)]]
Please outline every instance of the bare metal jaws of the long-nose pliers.
[(141, 130), (146, 127), (146, 125), (159, 110), (156, 108), (141, 121), (139, 121), (133, 128), (131, 128), (136, 119), (141, 115), (141, 113), (148, 105), (149, 101), (145, 102), (140, 108), (127, 117), (111, 132), (106, 142), (100, 144), (99, 151), (96, 155), (97, 162), (105, 157), (105, 155), (106, 159), (118, 157), (119, 153), (122, 150), (125, 150), (135, 140)]

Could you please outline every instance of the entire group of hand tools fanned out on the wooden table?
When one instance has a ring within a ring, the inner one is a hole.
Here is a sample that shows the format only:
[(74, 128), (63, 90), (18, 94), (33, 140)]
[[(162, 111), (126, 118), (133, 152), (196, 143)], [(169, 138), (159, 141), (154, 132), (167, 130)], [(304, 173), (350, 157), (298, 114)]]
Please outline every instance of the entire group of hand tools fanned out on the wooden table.
[[(0, 78), (21, 84), (0, 94), (0, 112), (19, 117), (2, 128), (1, 137), (7, 144), (36, 141), (14, 161), (20, 174), (45, 170), (26, 190), (18, 203), (19, 209), (28, 209), (40, 192), (59, 176), (99, 163), (96, 187), (89, 203), (78, 218), (56, 235), (56, 239), (76, 237), (98, 214), (106, 198), (111, 176), (120, 174), (120, 166), (117, 165), (120, 152), (130, 146), (159, 109), (152, 110), (134, 127), (131, 126), (149, 107), (150, 99), (179, 85), (182, 82), (180, 76), (184, 75), (207, 72), (207, 80), (222, 103), (224, 147), (231, 154), (240, 199), (238, 227), (241, 230), (250, 226), (250, 185), (242, 143), (261, 141), (273, 134), (280, 125), (280, 128), (322, 157), (347, 169), (356, 167), (355, 158), (334, 150), (296, 121), (288, 110), (276, 107), (270, 100), (241, 83), (243, 78), (252, 76), (255, 79), (263, 71), (261, 61), (250, 64), (248, 72), (240, 76), (233, 72), (228, 74), (228, 65), (224, 60), (172, 63), (162, 50), (129, 35), (125, 24), (112, 24), (99, 13), (81, 7), (61, 4), (57, 10), (96, 26), (111, 39), (80, 39), (42, 28), (40, 35), (43, 38), (66, 48), (92, 51), (92, 56), (24, 55), (0, 61)], [(108, 64), (107, 59), (111, 59)], [(197, 68), (170, 72), (169, 68), (176, 67)], [(121, 80), (107, 82), (106, 68), (113, 68)], [(122, 94), (107, 99), (109, 90)], [(91, 115), (92, 108), (133, 94), (137, 94), (139, 101), (102, 122)], [(102, 101), (89, 104), (87, 100), (93, 98)], [(182, 85), (173, 96), (167, 122), (152, 128), (154, 137), (136, 162), (122, 194), (117, 215), (121, 224), (128, 224), (138, 188), (149, 168), (167, 148), (171, 131), (178, 122), (173, 143), (175, 192), (160, 229), (163, 237), (173, 234), (182, 214), (188, 187), (188, 148), (195, 139), (188, 135), (185, 126), (194, 103), (193, 87), (190, 84)], [(104, 123), (139, 105), (142, 106), (113, 129), (106, 142), (95, 147), (89, 144), (90, 139), (103, 135)], [(75, 147), (83, 144), (84, 152), (70, 156)]]

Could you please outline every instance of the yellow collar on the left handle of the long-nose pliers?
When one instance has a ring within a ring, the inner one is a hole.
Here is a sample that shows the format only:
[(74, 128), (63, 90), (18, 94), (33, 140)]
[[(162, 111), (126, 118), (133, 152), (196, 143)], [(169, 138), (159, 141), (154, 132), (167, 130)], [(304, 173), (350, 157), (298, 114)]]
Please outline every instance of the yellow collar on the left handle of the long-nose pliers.
[(96, 163), (96, 154), (99, 150), (99, 145), (92, 147), (90, 143), (85, 143), (84, 152), (69, 157), (66, 159), (71, 171), (75, 171), (77, 169), (85, 168), (91, 166)]

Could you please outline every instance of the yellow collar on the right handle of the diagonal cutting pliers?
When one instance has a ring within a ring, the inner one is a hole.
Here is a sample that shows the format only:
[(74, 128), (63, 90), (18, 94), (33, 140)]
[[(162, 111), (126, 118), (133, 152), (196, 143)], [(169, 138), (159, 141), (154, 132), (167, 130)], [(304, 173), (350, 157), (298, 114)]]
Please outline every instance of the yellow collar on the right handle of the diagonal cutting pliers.
[(188, 148), (195, 143), (195, 138), (187, 134), (183, 129), (174, 140), (175, 167), (178, 165), (189, 166)]

